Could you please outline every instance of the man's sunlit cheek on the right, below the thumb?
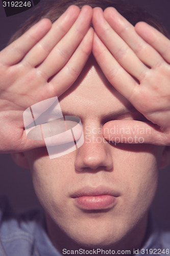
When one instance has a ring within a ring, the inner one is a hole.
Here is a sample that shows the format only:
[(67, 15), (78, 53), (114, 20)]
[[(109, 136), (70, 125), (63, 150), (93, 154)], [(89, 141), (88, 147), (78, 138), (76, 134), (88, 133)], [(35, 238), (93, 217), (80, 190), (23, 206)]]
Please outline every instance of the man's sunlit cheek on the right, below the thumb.
[(122, 186), (122, 207), (127, 207), (126, 213), (133, 208), (138, 215), (150, 207), (157, 188), (160, 156), (161, 148), (152, 145), (122, 144), (114, 150), (113, 172)]

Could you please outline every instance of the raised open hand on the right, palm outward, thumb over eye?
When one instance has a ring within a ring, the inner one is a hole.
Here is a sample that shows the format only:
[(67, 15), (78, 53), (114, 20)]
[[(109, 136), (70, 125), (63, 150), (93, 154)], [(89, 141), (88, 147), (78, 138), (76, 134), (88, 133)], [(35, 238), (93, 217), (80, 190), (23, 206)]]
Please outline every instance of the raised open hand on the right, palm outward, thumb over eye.
[[(124, 134), (121, 141), (125, 143), (126, 137), (139, 136), (139, 129), (143, 129), (144, 143), (170, 145), (169, 39), (144, 22), (132, 26), (112, 7), (104, 12), (95, 8), (92, 23), (94, 57), (112, 86), (147, 121), (110, 121), (104, 125), (103, 132), (114, 125), (129, 128), (131, 134)], [(114, 141), (120, 136), (104, 132), (105, 139)]]

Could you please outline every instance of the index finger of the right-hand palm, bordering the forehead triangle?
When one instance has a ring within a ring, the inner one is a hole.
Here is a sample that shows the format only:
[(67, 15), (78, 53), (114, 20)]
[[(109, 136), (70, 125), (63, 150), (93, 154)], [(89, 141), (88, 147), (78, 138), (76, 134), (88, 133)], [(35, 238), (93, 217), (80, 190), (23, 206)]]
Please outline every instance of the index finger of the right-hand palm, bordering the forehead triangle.
[(119, 65), (95, 33), (92, 52), (109, 82), (119, 93), (130, 99), (138, 83)]

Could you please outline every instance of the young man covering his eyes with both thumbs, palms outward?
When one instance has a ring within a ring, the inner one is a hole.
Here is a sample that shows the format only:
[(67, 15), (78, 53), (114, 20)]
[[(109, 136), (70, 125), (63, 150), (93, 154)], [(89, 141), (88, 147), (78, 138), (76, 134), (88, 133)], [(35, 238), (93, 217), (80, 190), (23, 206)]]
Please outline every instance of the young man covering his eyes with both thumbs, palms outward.
[[(149, 216), (158, 169), (169, 163), (168, 45), (113, 8), (71, 6), (2, 51), (1, 151), (30, 167), (44, 208), (41, 218), (2, 217), (2, 255), (169, 253), (168, 234)], [(21, 117), (55, 96), (64, 116), (81, 118), (84, 144), (50, 159), (43, 141), (26, 137)]]

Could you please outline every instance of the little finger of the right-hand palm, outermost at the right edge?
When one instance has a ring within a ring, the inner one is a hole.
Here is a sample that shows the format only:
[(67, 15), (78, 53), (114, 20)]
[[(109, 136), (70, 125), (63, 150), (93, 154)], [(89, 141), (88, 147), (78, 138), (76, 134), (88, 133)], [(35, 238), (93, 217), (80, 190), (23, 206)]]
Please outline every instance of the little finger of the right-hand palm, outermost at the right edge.
[(135, 31), (170, 63), (170, 40), (166, 36), (144, 22), (137, 23)]

